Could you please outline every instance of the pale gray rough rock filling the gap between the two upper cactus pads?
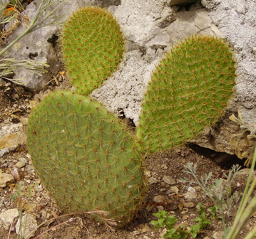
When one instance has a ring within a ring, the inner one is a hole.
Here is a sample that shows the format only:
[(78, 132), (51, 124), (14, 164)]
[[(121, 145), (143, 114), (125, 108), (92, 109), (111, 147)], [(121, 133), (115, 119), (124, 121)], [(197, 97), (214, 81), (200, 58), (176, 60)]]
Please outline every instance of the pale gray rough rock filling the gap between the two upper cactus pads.
[[(126, 53), (119, 70), (91, 93), (108, 110), (123, 108), (126, 117), (138, 124), (140, 104), (150, 75), (165, 51), (181, 39), (195, 33), (220, 36), (210, 23), (207, 11), (176, 12), (168, 1), (122, 1), (114, 15), (128, 40)], [(175, 21), (167, 21), (175, 18)], [(195, 23), (197, 26), (195, 26)]]

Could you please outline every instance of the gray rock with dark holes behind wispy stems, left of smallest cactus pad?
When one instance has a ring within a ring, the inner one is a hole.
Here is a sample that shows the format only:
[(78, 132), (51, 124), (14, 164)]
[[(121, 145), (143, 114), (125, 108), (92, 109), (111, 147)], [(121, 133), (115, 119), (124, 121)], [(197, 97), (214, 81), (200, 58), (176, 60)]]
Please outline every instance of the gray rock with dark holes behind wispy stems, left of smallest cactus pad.
[[(36, 14), (38, 7), (38, 0), (32, 1), (31, 4), (26, 6), (26, 11), (22, 14), (21, 18), (28, 16), (30, 21)], [(90, 0), (85, 1), (70, 1), (64, 4), (61, 9), (56, 11), (56, 14), (63, 16), (63, 21), (68, 18), (69, 14), (76, 11), (78, 7), (86, 6), (91, 4)], [(49, 9), (51, 10), (51, 9)], [(68, 14), (67, 14), (68, 13)], [(21, 24), (11, 35), (7, 38), (6, 46), (9, 45), (17, 36), (26, 31), (26, 24)], [(15, 78), (20, 78), (21, 82), (32, 90), (41, 90), (42, 87), (49, 80), (51, 80), (52, 74), (57, 74), (61, 70), (61, 64), (59, 63), (58, 53), (56, 48), (53, 48), (54, 39), (58, 38), (58, 31), (60, 27), (57, 26), (46, 26), (39, 28), (38, 30), (24, 36), (19, 40), (13, 47), (11, 47), (4, 56), (6, 58), (16, 58), (17, 60), (36, 60), (38, 62), (48, 63), (48, 73), (43, 76), (31, 73), (29, 70), (19, 68), (15, 70)], [(52, 42), (52, 43), (51, 43)]]

